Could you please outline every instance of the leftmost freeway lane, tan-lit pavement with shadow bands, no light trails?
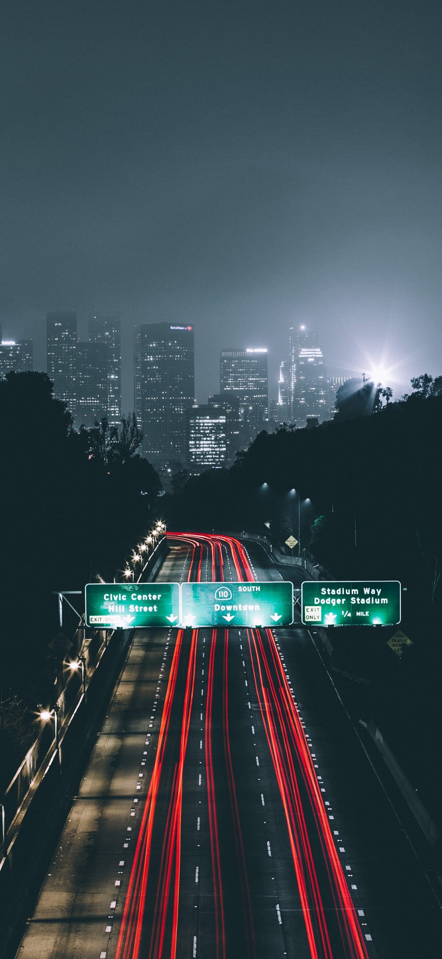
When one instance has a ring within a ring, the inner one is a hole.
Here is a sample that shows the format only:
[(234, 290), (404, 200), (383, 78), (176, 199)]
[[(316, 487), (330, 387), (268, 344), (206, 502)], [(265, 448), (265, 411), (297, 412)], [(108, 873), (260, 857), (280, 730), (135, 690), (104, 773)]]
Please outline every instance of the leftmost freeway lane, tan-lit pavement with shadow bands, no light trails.
[[(188, 564), (187, 548), (179, 557), (172, 550), (163, 579), (179, 582)], [(135, 634), (19, 957), (97, 959), (108, 950), (133, 857), (138, 810), (152, 776), (176, 635), (176, 630)]]

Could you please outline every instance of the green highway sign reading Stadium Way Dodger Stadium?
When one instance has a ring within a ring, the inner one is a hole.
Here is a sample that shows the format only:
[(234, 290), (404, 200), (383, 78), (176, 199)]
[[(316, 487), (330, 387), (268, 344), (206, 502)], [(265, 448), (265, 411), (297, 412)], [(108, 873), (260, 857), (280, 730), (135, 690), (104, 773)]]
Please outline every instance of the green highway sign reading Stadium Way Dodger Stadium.
[(397, 579), (301, 584), (301, 619), (311, 626), (395, 626), (401, 621)]

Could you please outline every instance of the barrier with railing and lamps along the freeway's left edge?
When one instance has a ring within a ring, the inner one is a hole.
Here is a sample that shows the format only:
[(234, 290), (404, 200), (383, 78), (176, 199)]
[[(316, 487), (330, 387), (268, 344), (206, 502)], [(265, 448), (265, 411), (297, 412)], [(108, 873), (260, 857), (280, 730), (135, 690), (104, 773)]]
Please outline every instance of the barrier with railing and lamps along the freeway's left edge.
[[(166, 553), (164, 537), (144, 566), (144, 582), (152, 581)], [(3, 805), (11, 818), (6, 819), (3, 854), (0, 850), (0, 959), (14, 954), (26, 903), (62, 827), (67, 796), (82, 774), (133, 635), (134, 630), (116, 630), (107, 644), (99, 644), (96, 662), (89, 664), (87, 701), (80, 690), (74, 707), (64, 709), (58, 750), (54, 732), (37, 737), (8, 787)], [(64, 707), (64, 690), (62, 696)]]

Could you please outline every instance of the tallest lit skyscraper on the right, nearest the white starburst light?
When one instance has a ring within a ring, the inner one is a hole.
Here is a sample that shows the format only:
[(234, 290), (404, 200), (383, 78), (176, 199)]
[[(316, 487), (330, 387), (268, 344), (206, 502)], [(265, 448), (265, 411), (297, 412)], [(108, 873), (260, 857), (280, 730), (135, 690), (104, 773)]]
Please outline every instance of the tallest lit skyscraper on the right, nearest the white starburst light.
[(308, 417), (326, 419), (327, 381), (317, 333), (301, 325), (290, 330), (291, 418), (304, 426)]

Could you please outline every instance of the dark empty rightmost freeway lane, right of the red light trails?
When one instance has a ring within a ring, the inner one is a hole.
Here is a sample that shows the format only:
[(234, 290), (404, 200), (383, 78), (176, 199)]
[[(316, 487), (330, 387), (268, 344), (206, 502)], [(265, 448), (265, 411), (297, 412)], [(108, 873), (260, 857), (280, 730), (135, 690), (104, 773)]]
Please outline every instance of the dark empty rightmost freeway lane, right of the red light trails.
[[(279, 574), (261, 547), (248, 545), (248, 552), (258, 578)], [(286, 578), (289, 570), (283, 567), (280, 573)], [(291, 573), (295, 585), (300, 585), (302, 573)], [(438, 955), (442, 951), (440, 910), (308, 630), (276, 629), (275, 635), (306, 733), (311, 737), (317, 773), (326, 790), (323, 795), (335, 817), (333, 834), (338, 849), (344, 850), (344, 864), (351, 867), (351, 885), (357, 886), (354, 900), (365, 913), (362, 921), (369, 924), (379, 956), (413, 959)], [(376, 750), (373, 760), (388, 782), (389, 773), (387, 768), (383, 770)], [(394, 794), (392, 779), (389, 787)]]

